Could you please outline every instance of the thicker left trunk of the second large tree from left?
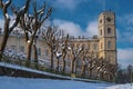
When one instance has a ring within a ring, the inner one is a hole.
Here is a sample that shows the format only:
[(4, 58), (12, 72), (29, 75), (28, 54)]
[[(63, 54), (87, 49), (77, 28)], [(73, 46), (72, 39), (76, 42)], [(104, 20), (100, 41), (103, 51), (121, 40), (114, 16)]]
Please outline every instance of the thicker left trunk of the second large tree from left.
[(27, 43), (27, 61), (25, 61), (25, 67), (30, 67), (31, 63), (31, 43)]

